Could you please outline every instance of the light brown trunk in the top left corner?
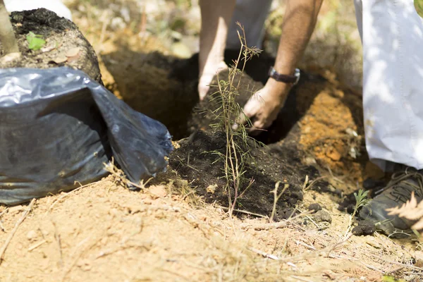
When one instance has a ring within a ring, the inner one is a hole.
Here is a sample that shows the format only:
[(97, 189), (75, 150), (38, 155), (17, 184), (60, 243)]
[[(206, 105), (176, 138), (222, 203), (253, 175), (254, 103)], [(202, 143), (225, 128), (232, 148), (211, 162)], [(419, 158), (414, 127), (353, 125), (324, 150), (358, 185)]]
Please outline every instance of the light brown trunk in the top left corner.
[(18, 42), (3, 0), (0, 0), (0, 41), (3, 44), (4, 55), (19, 52)]

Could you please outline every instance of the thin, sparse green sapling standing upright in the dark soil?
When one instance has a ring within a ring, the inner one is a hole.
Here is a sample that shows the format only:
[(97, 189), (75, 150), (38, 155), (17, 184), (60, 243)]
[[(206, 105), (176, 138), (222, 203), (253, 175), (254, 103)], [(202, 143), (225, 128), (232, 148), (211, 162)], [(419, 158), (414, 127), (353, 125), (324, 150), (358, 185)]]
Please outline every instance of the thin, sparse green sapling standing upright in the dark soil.
[[(250, 154), (250, 145), (258, 145), (259, 143), (248, 136), (247, 126), (251, 125), (245, 116), (247, 124), (239, 124), (237, 128), (233, 125), (240, 115), (243, 115), (243, 108), (236, 102), (235, 98), (239, 95), (240, 79), (235, 83), (235, 78), (243, 75), (245, 64), (253, 56), (258, 55), (261, 50), (256, 47), (247, 47), (245, 39), (245, 31), (240, 23), (237, 23), (243, 35), (238, 32), (241, 47), (238, 59), (233, 61), (233, 65), (229, 67), (227, 80), (220, 79), (217, 74), (217, 84), (211, 85), (217, 87), (217, 91), (211, 95), (211, 102), (219, 105), (218, 109), (211, 111), (216, 123), (212, 124), (215, 130), (222, 130), (226, 135), (225, 152), (212, 152), (223, 160), (224, 177), (226, 178), (226, 191), (228, 192), (229, 214), (233, 213), (236, 202), (243, 193), (250, 188), (254, 179), (246, 179), (245, 164), (254, 164), (255, 161)], [(233, 194), (231, 193), (233, 188)]]

